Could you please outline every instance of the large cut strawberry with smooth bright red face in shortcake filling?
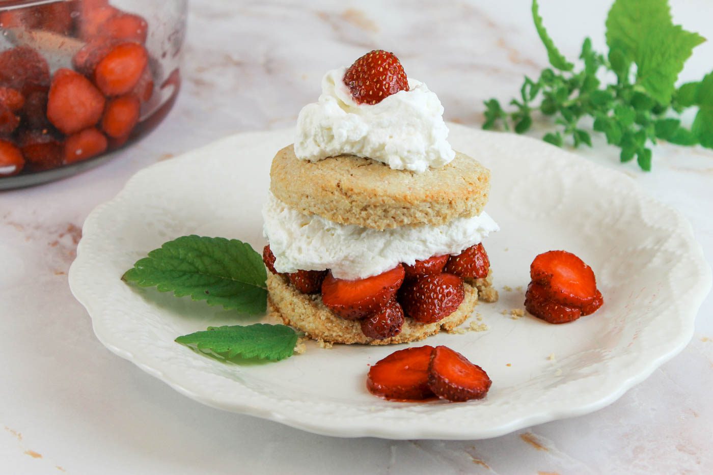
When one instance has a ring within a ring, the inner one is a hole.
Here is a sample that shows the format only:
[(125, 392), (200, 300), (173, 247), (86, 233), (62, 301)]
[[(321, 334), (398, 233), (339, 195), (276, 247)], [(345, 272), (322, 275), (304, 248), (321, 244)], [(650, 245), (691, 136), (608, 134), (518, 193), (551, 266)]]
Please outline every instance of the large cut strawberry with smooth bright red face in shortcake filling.
[(359, 280), (335, 279), (332, 272), (322, 282), (322, 302), (347, 320), (359, 320), (384, 307), (404, 282), (399, 264), (379, 275)]

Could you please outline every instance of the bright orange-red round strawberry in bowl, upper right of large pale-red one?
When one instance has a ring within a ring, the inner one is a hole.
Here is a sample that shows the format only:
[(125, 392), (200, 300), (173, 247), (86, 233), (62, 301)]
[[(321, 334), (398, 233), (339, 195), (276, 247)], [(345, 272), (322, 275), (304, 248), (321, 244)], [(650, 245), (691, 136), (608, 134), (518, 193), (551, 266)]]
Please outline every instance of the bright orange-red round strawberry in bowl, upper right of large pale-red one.
[(138, 84), (147, 64), (146, 48), (133, 42), (118, 44), (94, 68), (94, 82), (106, 96), (121, 96)]

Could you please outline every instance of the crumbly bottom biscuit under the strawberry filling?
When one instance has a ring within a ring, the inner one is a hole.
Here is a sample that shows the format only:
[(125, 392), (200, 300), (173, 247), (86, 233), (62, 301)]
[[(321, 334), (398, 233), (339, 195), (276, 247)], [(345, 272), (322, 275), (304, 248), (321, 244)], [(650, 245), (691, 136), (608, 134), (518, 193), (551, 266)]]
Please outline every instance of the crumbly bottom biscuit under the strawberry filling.
[[(478, 303), (478, 290), (469, 284), (464, 284), (466, 297), (448, 317), (440, 322), (423, 324), (406, 318), (401, 333), (388, 339), (373, 339), (361, 332), (358, 321), (344, 320), (334, 315), (324, 306), (322, 297), (304, 295), (289, 285), (287, 280), (279, 275), (267, 273), (267, 290), (270, 292), (268, 304), (270, 312), (282, 318), (285, 325), (304, 332), (307, 337), (333, 343), (361, 344), (395, 344), (414, 342), (441, 330), (453, 330), (471, 316)], [(486, 288), (486, 287), (483, 287)]]

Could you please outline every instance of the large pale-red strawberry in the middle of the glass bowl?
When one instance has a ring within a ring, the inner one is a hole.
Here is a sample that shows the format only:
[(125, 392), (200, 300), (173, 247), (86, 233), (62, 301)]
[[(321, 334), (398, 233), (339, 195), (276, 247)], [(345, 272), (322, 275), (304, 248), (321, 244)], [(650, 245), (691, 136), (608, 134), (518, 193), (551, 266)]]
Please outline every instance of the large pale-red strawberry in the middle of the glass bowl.
[(71, 69), (58, 69), (47, 98), (47, 118), (71, 135), (94, 126), (104, 111), (104, 96), (87, 78)]

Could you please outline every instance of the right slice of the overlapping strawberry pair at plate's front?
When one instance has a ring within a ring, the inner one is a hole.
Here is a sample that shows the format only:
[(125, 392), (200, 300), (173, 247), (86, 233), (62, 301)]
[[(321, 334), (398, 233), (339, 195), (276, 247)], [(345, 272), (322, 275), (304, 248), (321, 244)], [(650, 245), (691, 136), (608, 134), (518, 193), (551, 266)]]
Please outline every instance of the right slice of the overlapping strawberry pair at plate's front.
[(451, 402), (483, 399), (491, 387), (483, 368), (448, 347), (436, 347), (429, 363), (429, 387), (436, 396)]

